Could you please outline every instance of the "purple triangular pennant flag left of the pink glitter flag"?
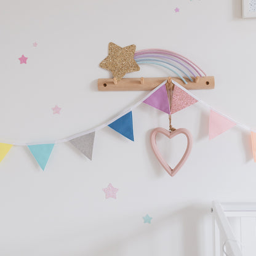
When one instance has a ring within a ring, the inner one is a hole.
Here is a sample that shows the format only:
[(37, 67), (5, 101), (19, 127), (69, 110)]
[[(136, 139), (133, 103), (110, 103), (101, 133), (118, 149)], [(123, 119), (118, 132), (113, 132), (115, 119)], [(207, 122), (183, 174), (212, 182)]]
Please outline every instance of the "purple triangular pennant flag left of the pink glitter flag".
[(167, 114), (170, 114), (170, 105), (166, 91), (166, 85), (164, 84), (153, 94), (151, 94), (150, 97), (146, 98), (144, 103), (153, 106), (154, 108), (158, 108), (158, 110), (161, 110)]

